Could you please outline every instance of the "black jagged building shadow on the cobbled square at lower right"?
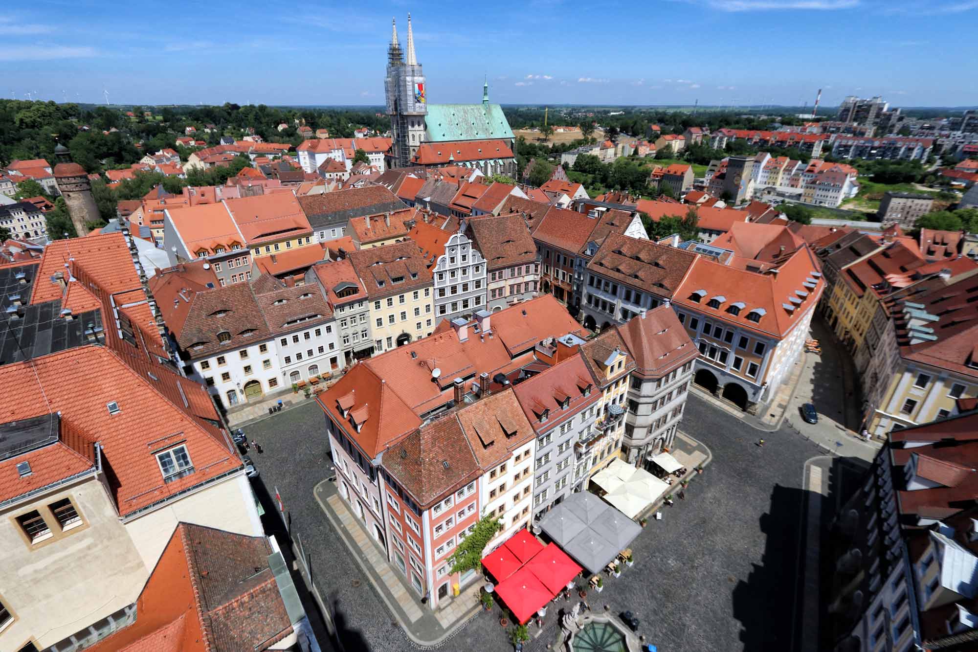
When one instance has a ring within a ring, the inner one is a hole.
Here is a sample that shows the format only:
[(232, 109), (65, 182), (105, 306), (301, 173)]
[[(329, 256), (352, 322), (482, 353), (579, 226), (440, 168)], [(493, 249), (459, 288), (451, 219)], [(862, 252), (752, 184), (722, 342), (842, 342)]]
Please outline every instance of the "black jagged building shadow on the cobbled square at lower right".
[(794, 620), (799, 610), (795, 601), (804, 575), (799, 568), (804, 553), (799, 535), (806, 513), (802, 500), (807, 494), (803, 489), (776, 485), (770, 509), (761, 516), (766, 540), (762, 563), (754, 565), (746, 582), (733, 588), (733, 618), (740, 622), (745, 650), (796, 649)]

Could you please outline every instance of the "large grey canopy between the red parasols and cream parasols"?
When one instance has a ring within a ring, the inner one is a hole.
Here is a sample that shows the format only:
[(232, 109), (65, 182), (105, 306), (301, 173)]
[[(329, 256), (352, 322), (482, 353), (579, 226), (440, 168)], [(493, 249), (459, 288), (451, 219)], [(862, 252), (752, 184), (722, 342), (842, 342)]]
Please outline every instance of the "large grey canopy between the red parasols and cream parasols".
[(571, 493), (540, 521), (564, 552), (591, 573), (600, 573), (642, 528), (594, 493)]

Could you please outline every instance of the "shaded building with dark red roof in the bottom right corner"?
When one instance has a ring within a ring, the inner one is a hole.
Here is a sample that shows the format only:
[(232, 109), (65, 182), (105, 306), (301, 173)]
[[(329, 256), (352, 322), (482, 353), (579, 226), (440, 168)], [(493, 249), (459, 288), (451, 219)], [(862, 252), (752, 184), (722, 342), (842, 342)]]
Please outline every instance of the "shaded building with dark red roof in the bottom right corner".
[(894, 430), (829, 534), (835, 650), (966, 650), (978, 565), (978, 413)]

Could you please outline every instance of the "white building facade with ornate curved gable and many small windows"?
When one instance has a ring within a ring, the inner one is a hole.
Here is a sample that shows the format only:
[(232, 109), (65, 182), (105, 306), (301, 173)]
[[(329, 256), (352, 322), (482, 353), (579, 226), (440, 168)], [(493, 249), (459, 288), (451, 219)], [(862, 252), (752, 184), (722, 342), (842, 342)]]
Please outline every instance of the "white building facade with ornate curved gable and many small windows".
[(450, 235), (444, 249), (430, 272), (435, 324), (443, 319), (468, 320), (486, 304), (486, 261), (479, 250), (462, 232)]

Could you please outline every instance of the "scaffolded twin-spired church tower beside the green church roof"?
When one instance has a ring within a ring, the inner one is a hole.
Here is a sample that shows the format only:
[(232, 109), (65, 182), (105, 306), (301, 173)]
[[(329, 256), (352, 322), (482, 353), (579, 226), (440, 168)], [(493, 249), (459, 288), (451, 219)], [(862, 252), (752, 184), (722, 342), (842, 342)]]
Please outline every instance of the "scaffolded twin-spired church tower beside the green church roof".
[(384, 95), (393, 139), (391, 166), (407, 167), (424, 140), (424, 116), (427, 115), (427, 89), (424, 73), (415, 54), (415, 36), (408, 14), (407, 60), (397, 42), (397, 25), (391, 28), (387, 48), (387, 77)]

